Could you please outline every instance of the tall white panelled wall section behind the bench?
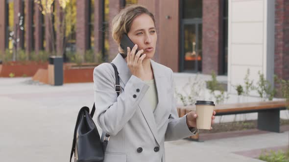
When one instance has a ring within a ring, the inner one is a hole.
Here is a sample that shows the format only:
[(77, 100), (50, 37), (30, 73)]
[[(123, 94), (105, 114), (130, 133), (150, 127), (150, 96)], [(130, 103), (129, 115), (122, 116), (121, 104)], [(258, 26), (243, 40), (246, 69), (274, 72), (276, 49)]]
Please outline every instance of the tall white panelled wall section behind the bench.
[(275, 0), (229, 0), (228, 11), (228, 92), (244, 85), (247, 69), (255, 83), (258, 71), (273, 83)]

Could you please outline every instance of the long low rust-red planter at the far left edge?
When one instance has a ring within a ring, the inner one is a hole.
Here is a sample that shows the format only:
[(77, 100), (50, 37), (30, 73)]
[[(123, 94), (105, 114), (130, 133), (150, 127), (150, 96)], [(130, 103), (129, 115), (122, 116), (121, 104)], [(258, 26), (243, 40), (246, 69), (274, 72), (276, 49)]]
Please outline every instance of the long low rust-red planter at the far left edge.
[(0, 77), (9, 77), (10, 73), (14, 77), (32, 77), (38, 69), (47, 69), (48, 62), (7, 62), (0, 64)]

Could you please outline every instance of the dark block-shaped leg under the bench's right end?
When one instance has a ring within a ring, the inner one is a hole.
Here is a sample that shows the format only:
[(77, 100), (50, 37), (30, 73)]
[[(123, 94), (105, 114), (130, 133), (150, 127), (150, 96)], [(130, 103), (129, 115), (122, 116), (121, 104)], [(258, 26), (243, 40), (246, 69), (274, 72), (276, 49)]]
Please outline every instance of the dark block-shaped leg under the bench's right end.
[(258, 129), (280, 132), (280, 110), (265, 110), (258, 112)]

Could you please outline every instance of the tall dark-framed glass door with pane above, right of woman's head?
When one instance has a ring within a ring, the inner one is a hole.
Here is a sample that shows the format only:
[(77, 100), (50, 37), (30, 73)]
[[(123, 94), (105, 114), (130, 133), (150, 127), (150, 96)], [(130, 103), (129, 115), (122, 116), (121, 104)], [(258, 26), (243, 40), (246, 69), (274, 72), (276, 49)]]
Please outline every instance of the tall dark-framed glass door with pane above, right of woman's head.
[(181, 0), (181, 71), (202, 71), (202, 0)]

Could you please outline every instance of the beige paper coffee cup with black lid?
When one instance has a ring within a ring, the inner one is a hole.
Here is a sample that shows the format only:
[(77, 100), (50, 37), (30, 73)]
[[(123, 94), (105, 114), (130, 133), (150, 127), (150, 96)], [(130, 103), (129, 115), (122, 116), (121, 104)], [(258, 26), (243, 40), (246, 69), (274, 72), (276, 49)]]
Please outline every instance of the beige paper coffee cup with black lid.
[(213, 101), (196, 101), (197, 129), (211, 129), (212, 116), (215, 108)]

